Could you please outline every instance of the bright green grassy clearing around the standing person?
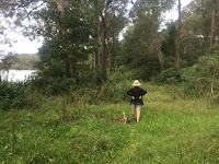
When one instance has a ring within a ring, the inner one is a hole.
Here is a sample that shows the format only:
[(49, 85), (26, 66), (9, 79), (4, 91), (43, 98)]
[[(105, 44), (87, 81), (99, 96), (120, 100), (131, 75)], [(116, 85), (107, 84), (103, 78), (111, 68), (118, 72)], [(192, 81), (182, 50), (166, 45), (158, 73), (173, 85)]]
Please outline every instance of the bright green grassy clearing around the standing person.
[(61, 97), (45, 99), (38, 109), (15, 110), (14, 150), (12, 112), (0, 112), (0, 162), (219, 163), (217, 106), (182, 99), (180, 89), (142, 87), (147, 101), (134, 125), (111, 120), (123, 112), (131, 116), (128, 102), (69, 104), (65, 119)]

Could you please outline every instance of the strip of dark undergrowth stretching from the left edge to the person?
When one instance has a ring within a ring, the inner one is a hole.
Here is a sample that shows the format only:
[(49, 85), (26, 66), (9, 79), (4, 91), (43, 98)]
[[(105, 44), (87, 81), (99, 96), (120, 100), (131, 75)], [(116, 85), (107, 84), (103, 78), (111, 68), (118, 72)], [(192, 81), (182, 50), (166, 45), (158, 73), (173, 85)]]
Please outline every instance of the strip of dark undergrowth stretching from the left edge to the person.
[[(82, 68), (81, 68), (82, 69)], [(62, 96), (71, 103), (96, 104), (127, 101), (127, 91), (138, 77), (124, 67), (107, 73), (103, 80), (99, 70), (88, 72), (88, 68), (74, 78), (34, 75), (25, 82), (0, 83), (0, 108), (33, 107), (41, 104), (41, 97)], [(43, 95), (43, 96), (42, 96)]]

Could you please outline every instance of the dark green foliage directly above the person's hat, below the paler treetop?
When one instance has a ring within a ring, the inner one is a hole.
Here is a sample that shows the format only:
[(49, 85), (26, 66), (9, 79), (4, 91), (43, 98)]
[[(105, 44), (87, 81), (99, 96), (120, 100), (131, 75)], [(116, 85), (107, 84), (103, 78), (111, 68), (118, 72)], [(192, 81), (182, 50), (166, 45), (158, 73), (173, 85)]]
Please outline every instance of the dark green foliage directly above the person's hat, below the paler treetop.
[(149, 80), (151, 77), (159, 74), (160, 66), (157, 51), (139, 44), (138, 36), (134, 34), (131, 28), (125, 36), (123, 43), (123, 51), (120, 65), (127, 66), (132, 72), (132, 78)]

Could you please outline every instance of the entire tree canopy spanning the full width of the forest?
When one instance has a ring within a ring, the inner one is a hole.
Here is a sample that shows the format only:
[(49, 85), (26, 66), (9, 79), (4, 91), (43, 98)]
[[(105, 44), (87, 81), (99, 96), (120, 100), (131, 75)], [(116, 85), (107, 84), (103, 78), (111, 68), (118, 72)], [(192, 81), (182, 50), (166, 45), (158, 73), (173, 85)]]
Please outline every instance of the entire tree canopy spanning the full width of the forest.
[[(178, 74), (200, 62), (219, 35), (217, 0), (192, 0), (184, 8), (174, 0), (3, 0), (0, 4), (1, 38), (9, 27), (19, 27), (31, 39), (42, 36), (38, 75), (76, 83), (85, 77), (94, 83), (104, 81), (119, 67), (145, 80), (175, 68)], [(178, 7), (180, 16), (165, 22), (163, 15), (173, 7)]]

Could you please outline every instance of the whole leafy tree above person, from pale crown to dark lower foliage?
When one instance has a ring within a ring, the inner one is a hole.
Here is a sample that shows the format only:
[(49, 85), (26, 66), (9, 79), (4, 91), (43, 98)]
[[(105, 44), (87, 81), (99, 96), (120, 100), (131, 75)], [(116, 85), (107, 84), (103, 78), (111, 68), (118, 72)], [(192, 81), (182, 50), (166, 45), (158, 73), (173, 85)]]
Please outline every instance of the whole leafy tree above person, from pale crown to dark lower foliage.
[(162, 13), (171, 9), (173, 1), (139, 0), (132, 4), (129, 15), (134, 25), (124, 37), (122, 58), (126, 58), (124, 63), (141, 70), (143, 79), (150, 79), (164, 70), (164, 54), (161, 50), (163, 36), (159, 30)]

